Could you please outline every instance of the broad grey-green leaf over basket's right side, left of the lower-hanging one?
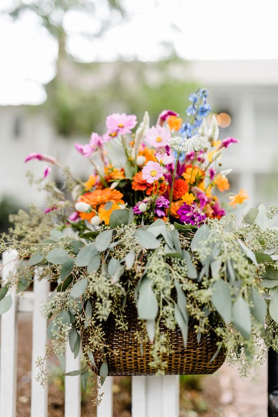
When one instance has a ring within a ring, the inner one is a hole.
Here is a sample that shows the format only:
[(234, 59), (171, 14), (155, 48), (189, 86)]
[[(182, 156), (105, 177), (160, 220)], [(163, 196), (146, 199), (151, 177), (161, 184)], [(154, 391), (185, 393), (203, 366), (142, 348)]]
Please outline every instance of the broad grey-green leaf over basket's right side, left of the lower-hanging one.
[(226, 281), (216, 281), (212, 285), (211, 302), (221, 317), (229, 323), (232, 317), (232, 297)]

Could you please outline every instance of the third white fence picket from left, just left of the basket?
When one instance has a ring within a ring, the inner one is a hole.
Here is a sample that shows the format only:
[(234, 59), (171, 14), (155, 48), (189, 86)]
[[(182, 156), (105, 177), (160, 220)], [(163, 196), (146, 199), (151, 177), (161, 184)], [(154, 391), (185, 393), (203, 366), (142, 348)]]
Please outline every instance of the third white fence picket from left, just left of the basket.
[[(74, 359), (69, 343), (66, 345), (66, 372), (80, 369), (80, 356)], [(65, 376), (65, 417), (81, 416), (80, 375)]]

